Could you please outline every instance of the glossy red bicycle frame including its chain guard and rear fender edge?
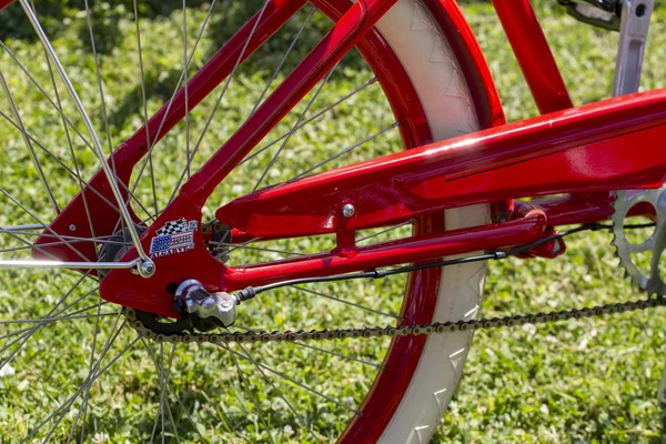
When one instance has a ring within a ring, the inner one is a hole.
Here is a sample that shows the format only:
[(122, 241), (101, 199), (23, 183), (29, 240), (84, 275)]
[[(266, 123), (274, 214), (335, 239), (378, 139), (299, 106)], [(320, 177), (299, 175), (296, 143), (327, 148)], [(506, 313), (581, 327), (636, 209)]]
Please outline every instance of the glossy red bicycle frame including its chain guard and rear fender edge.
[[(655, 188), (666, 176), (666, 153), (657, 143), (666, 138), (666, 90), (638, 93), (573, 108), (562, 77), (534, 17), (528, 0), (494, 1), (535, 98), (541, 117), (504, 124), (504, 117), (492, 80), (471, 31), (456, 16), (448, 0), (436, 3), (445, 20), (456, 20), (470, 65), (466, 73), (481, 107), (482, 127), (487, 130), (428, 144), (410, 140), (420, 148), (374, 159), (349, 168), (329, 171), (289, 184), (259, 190), (222, 206), (216, 218), (233, 228), (234, 242), (250, 236), (281, 239), (335, 233), (337, 248), (316, 255), (231, 268), (212, 258), (201, 231), (194, 248), (182, 254), (153, 258), (155, 274), (143, 279), (128, 270), (113, 270), (103, 279), (102, 296), (111, 302), (178, 317), (170, 283), (185, 279), (201, 281), (210, 291), (234, 291), (249, 285), (285, 279), (324, 276), (421, 262), (450, 254), (497, 250), (537, 241), (559, 224), (601, 221), (612, 213), (612, 190)], [(395, 0), (360, 0), (353, 6), (324, 2), (325, 13), (336, 17), (330, 33), (284, 80), (275, 92), (233, 134), (229, 141), (181, 188), (175, 200), (142, 234), (150, 250), (155, 232), (169, 221), (185, 219), (201, 226), (201, 208), (229, 172), (261, 141), (310, 89), (352, 48), (372, 52), (381, 43), (374, 24)], [(7, 1), (0, 2), (0, 8)], [(261, 20), (251, 19), (189, 83), (189, 104), (195, 107), (230, 74), (236, 60), (243, 61), (274, 33), (302, 6), (304, 0), (272, 0)], [(255, 23), (260, 20), (259, 23)], [(256, 32), (251, 29), (256, 24)], [(245, 41), (251, 37), (249, 44)], [(389, 65), (394, 61), (384, 60)], [(382, 82), (405, 82), (400, 74), (385, 71)], [(392, 77), (393, 75), (393, 77)], [(400, 112), (413, 102), (411, 88), (392, 103)], [(169, 107), (148, 123), (150, 134), (161, 139), (185, 114), (183, 90)], [(485, 107), (482, 105), (485, 104)], [(397, 115), (400, 120), (400, 115)], [(413, 124), (426, 124), (418, 119)], [(161, 128), (161, 130), (160, 130)], [(410, 133), (403, 135), (407, 138)], [(129, 183), (132, 169), (145, 155), (145, 129), (123, 143), (113, 154), (119, 180)], [(151, 143), (154, 141), (151, 141)], [(110, 190), (103, 174), (97, 174), (83, 192), (95, 213), (97, 235), (112, 234), (118, 221), (109, 204)], [(558, 194), (556, 198), (548, 195)], [(562, 194), (566, 194), (562, 196)], [(529, 203), (518, 198), (544, 196)], [(105, 199), (102, 199), (105, 198)], [(128, 199), (127, 194), (124, 195)], [(357, 248), (357, 230), (402, 223), (415, 216), (476, 203), (509, 202), (508, 218), (494, 223), (438, 234), (414, 235), (400, 241)], [(354, 214), (342, 209), (353, 205)], [(135, 221), (139, 221), (132, 213)], [(78, 195), (52, 222), (50, 230), (65, 233), (68, 226), (87, 226), (83, 195)], [(85, 229), (83, 229), (85, 230)], [(43, 236), (37, 245), (49, 242)], [(43, 246), (42, 251), (64, 261), (78, 261), (69, 248)], [(97, 260), (93, 242), (77, 244), (77, 250)], [(562, 245), (549, 245), (532, 255), (555, 256)], [(36, 256), (43, 253), (34, 251)], [(529, 255), (529, 254), (528, 254)], [(131, 249), (123, 261), (135, 258)]]

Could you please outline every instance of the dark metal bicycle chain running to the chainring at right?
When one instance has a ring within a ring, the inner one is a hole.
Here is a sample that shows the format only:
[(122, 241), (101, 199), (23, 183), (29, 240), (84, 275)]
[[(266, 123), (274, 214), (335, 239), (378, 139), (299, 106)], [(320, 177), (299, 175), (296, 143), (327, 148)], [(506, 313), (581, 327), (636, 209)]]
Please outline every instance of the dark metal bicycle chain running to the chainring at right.
[(549, 313), (518, 314), (513, 316), (480, 319), (480, 320), (461, 320), (455, 322), (435, 322), (432, 324), (417, 325), (387, 325), (384, 327), (352, 327), (352, 329), (334, 329), (334, 330), (303, 330), (297, 332), (226, 332), (226, 333), (180, 333), (180, 334), (158, 334), (143, 325), (137, 317), (133, 309), (125, 307), (124, 314), (130, 321), (130, 324), (139, 334), (145, 339), (157, 342), (169, 343), (212, 343), (226, 344), (233, 342), (240, 343), (256, 343), (256, 342), (285, 342), (285, 341), (332, 341), (344, 340), (347, 337), (394, 337), (407, 335), (422, 335), (432, 333), (448, 333), (464, 332), (476, 330), (490, 330), (506, 326), (516, 326), (524, 324), (546, 324), (557, 321), (567, 321), (572, 319), (583, 319), (592, 316), (601, 316), (612, 313), (624, 313), (637, 310), (646, 310), (655, 306), (665, 306), (666, 296), (655, 296), (642, 301), (620, 302), (616, 304), (596, 305), (593, 307), (561, 310)]

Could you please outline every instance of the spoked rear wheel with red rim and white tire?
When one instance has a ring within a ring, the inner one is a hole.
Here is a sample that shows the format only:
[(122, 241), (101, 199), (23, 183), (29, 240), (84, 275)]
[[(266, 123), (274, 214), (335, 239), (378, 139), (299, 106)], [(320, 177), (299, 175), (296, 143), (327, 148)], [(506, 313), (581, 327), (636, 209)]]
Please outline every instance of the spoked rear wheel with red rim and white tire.
[[(155, 144), (144, 173), (135, 169), (129, 184), (130, 203), (140, 219), (151, 223), (180, 185), (179, 178), (196, 171), (265, 100), (330, 28), (325, 16), (336, 20), (346, 7), (343, 0), (306, 4), (234, 70), (229, 83), (222, 82)], [(19, 6), (10, 8), (8, 16), (13, 17)], [(65, 23), (59, 27), (49, 24), (37, 4), (38, 17), (52, 28), (51, 41), (60, 38), (56, 50), (105, 148), (125, 139), (169, 102), (179, 79), (192, 75), (193, 67), (182, 67), (193, 47), (193, 63), (201, 63), (210, 56), (206, 46), (219, 47), (220, 34), (228, 36), (232, 24), (238, 28), (264, 2), (125, 8), (95, 3), (57, 18)], [(400, 0), (377, 29), (359, 48), (364, 59), (345, 57), (220, 184), (204, 218), (258, 186), (478, 128), (463, 75), (465, 61), (456, 59), (442, 23), (425, 3)], [(98, 165), (39, 43), (21, 32), (6, 37), (0, 56), (6, 90), (0, 142), (7, 147), (0, 151), (6, 165), (0, 179), (0, 260), (26, 259), (34, 235)], [(173, 46), (165, 48), (165, 42)], [(357, 239), (367, 244), (412, 230), (427, 233), (487, 220), (485, 206), (466, 208), (421, 218), (413, 226), (359, 233)], [(95, 238), (98, 252), (127, 243), (118, 226), (115, 236)], [(53, 235), (53, 244), (75, 248), (81, 242), (75, 231)], [(216, 246), (233, 265), (326, 251), (333, 241), (232, 240)], [(406, 280), (293, 287), (243, 304), (233, 330), (473, 319), (484, 275), (485, 265), (468, 264), (422, 271)], [(2, 270), (0, 276), (6, 293), (0, 297), (0, 396), (9, 412), (0, 415), (0, 431), (9, 442), (85, 436), (97, 442), (104, 436), (112, 442), (427, 442), (460, 382), (473, 334), (172, 346), (137, 339), (119, 309), (99, 297), (90, 273)]]

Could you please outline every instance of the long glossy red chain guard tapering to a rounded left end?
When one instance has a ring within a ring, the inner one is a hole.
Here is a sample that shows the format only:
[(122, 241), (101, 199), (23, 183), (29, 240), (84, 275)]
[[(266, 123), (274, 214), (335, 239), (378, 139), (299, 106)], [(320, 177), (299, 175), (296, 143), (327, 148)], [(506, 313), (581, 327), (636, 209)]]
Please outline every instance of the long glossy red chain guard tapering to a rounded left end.
[[(505, 199), (657, 186), (665, 101), (656, 90), (509, 123), (258, 191), (216, 216), (254, 235), (303, 235)], [(345, 220), (347, 203), (355, 214)]]

